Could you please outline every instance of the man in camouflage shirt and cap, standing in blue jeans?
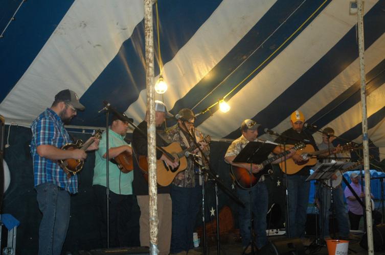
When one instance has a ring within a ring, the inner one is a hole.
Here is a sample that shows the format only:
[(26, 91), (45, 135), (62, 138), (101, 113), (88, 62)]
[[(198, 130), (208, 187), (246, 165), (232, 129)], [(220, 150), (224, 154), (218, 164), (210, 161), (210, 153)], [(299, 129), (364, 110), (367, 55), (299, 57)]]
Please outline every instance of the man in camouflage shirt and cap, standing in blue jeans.
[[(187, 108), (182, 109), (175, 118), (178, 122), (167, 131), (167, 138), (179, 143), (182, 149), (190, 148), (192, 154), (187, 153), (187, 168), (175, 176), (171, 185), (172, 234), (170, 252), (178, 255), (201, 254), (193, 249), (193, 233), (200, 209), (202, 180), (199, 172), (201, 172), (202, 165), (208, 167), (208, 162), (202, 159), (201, 151), (208, 159), (210, 147), (203, 134), (194, 127), (195, 115), (193, 111)], [(201, 150), (196, 147), (196, 144)]]

